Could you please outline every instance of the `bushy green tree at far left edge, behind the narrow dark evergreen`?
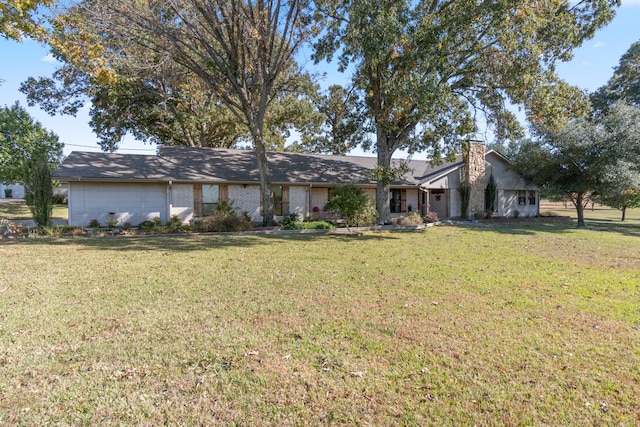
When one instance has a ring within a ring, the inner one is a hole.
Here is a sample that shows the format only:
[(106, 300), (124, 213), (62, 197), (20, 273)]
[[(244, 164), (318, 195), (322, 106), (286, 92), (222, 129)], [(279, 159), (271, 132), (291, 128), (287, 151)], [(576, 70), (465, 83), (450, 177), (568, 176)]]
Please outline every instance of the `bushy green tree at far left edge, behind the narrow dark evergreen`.
[(0, 182), (24, 183), (25, 161), (41, 155), (53, 172), (62, 159), (63, 144), (15, 103), (0, 109)]

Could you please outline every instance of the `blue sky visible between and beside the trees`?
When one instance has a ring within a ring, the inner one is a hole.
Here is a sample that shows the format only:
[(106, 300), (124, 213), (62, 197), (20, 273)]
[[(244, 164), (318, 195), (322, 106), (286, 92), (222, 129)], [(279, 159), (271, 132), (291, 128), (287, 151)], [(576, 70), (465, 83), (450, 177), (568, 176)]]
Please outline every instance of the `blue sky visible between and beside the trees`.
[[(574, 52), (573, 60), (560, 64), (557, 67), (558, 74), (567, 82), (593, 92), (607, 83), (620, 57), (638, 40), (640, 0), (622, 0), (622, 6), (613, 21), (599, 30), (594, 38), (585, 41)], [(60, 137), (65, 144), (65, 154), (71, 151), (100, 151), (97, 138), (88, 124), (88, 106), (76, 117), (52, 117), (37, 106), (29, 107), (26, 97), (18, 90), (20, 83), (28, 77), (50, 77), (59, 66), (45, 46), (30, 40), (18, 43), (0, 38), (0, 63), (0, 79), (3, 80), (0, 83), (0, 107), (12, 106), (18, 101), (31, 117)], [(349, 76), (337, 76), (336, 72), (330, 75), (342, 80), (340, 83), (349, 81)], [(121, 142), (119, 152), (153, 154), (155, 146), (145, 145), (127, 136)]]

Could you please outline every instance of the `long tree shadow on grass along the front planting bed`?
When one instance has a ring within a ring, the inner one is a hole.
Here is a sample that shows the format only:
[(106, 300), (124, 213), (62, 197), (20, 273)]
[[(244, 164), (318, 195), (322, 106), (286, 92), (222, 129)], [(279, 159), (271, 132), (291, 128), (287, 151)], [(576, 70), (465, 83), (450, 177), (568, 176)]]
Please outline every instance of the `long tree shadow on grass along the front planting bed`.
[[(402, 231), (398, 231), (402, 232)], [(394, 240), (393, 233), (365, 233), (361, 236), (349, 236), (330, 233), (301, 233), (301, 234), (157, 234), (145, 236), (118, 237), (74, 237), (74, 238), (42, 238), (24, 241), (28, 244), (64, 246), (69, 244), (82, 245), (91, 249), (139, 251), (139, 250), (168, 250), (190, 252), (199, 250), (247, 248), (261, 245), (273, 245), (289, 242), (317, 242), (341, 241), (357, 243), (359, 241)]]

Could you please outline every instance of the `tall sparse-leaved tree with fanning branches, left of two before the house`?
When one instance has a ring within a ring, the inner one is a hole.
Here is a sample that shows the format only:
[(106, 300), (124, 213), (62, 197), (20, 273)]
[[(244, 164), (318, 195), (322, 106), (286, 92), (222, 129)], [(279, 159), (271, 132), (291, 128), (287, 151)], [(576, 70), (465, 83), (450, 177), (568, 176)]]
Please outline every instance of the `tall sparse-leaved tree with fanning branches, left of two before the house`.
[(133, 0), (97, 0), (74, 6), (67, 17), (81, 10), (75, 29), (88, 24), (101, 32), (128, 35), (119, 49), (103, 50), (113, 54), (101, 70), (113, 73), (126, 46), (136, 46), (151, 58), (174, 61), (198, 76), (216, 102), (246, 126), (258, 161), (263, 224), (273, 225), (265, 120), (283, 88), (290, 86), (288, 72), (300, 74), (293, 56), (310, 34), (306, 5), (303, 0), (187, 0), (148, 7)]

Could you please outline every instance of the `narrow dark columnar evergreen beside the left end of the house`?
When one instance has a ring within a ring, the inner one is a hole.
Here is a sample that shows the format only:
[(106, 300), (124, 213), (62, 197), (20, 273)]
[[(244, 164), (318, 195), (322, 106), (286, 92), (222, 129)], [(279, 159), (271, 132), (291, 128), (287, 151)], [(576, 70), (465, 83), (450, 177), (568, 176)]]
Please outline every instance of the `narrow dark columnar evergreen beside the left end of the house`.
[(24, 196), (38, 227), (51, 226), (53, 183), (46, 153), (37, 153), (24, 162)]

